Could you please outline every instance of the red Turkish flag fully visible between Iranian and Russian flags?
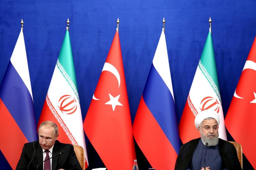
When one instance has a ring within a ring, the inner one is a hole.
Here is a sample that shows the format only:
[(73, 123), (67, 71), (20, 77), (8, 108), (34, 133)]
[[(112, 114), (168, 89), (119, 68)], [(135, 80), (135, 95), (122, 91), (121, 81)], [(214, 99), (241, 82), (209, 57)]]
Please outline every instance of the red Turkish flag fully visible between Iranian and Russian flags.
[(132, 169), (135, 149), (118, 32), (86, 114), (84, 131), (107, 169)]

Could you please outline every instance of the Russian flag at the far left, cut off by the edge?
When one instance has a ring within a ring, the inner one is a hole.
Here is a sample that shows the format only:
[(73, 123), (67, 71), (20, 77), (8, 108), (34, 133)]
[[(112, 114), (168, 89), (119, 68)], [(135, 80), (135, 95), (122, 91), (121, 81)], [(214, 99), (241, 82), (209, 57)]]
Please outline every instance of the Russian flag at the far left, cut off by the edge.
[(12, 169), (15, 169), (24, 143), (37, 138), (22, 29), (0, 85), (0, 129), (1, 152)]

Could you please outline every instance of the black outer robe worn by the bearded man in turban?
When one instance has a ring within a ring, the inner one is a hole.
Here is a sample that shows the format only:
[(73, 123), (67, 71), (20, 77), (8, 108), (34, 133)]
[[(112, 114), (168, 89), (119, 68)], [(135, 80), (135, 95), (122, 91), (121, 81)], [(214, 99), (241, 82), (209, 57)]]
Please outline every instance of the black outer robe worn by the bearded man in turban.
[[(201, 138), (193, 139), (181, 146), (176, 159), (175, 170), (185, 170), (187, 168), (199, 140), (201, 140)], [(237, 157), (236, 148), (233, 144), (219, 138), (219, 151), (222, 164), (225, 168), (228, 170), (242, 170)]]

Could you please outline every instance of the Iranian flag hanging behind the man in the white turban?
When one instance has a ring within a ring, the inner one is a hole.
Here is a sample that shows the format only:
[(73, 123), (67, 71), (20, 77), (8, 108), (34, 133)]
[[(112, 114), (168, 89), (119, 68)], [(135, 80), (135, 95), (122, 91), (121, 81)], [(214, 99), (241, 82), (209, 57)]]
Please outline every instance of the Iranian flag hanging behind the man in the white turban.
[(211, 32), (208, 33), (181, 116), (179, 133), (183, 144), (200, 137), (195, 117), (207, 109), (215, 110), (220, 115), (219, 137), (227, 140)]

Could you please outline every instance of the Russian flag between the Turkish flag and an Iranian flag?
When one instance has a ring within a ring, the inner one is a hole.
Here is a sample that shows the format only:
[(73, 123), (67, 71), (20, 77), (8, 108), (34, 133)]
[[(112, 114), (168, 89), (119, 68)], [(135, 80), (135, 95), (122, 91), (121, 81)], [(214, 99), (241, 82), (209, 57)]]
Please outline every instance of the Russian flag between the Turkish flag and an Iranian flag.
[(153, 168), (174, 169), (180, 138), (164, 31), (133, 122), (133, 135)]

